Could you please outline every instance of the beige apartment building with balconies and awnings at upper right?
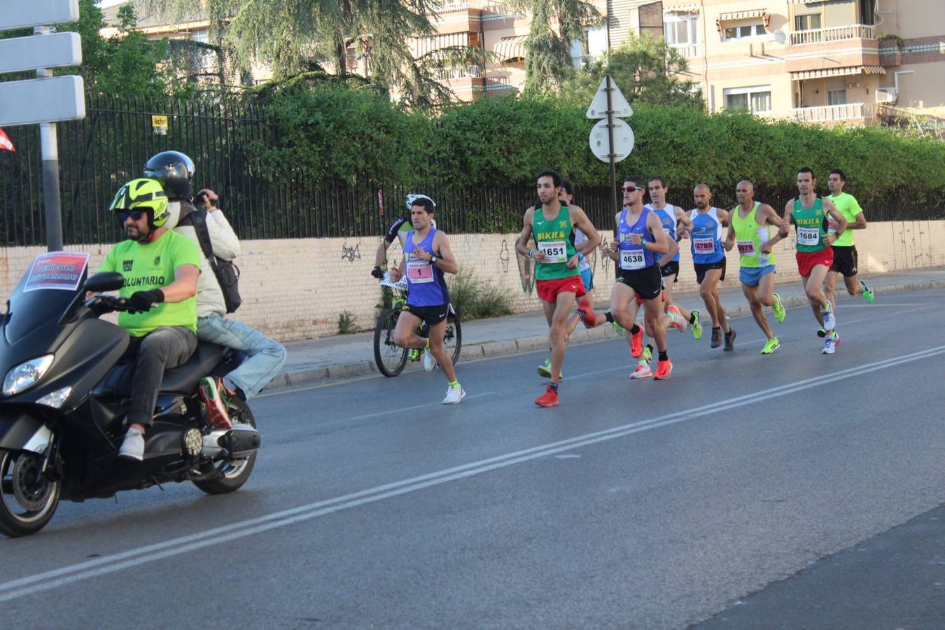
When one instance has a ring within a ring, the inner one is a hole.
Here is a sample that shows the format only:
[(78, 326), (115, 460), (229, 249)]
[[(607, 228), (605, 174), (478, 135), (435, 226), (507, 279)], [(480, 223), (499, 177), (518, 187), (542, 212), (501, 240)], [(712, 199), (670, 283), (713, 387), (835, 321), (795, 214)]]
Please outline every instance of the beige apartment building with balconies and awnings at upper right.
[(710, 111), (828, 125), (945, 117), (943, 0), (612, 0), (611, 45), (665, 37)]

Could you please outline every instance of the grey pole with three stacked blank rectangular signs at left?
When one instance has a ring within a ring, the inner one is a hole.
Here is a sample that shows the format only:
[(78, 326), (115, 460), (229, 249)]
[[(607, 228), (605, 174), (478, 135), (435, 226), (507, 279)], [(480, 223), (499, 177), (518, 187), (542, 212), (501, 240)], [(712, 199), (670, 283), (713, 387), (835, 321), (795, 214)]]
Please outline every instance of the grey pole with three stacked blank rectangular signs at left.
[(0, 11), (0, 31), (32, 26), (33, 36), (0, 43), (0, 73), (36, 70), (37, 78), (0, 83), (0, 127), (40, 125), (46, 247), (59, 251), (62, 216), (56, 122), (85, 118), (85, 90), (82, 77), (53, 77), (51, 68), (79, 65), (82, 50), (77, 33), (50, 33), (49, 26), (76, 22), (78, 0), (6, 4)]

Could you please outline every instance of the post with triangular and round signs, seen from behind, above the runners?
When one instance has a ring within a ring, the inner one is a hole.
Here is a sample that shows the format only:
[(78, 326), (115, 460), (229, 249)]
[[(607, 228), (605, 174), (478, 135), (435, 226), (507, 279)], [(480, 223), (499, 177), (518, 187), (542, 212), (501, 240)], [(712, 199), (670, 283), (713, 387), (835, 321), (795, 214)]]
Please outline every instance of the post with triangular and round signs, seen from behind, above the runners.
[[(617, 162), (627, 158), (633, 150), (633, 129), (617, 116), (632, 116), (633, 108), (627, 98), (620, 92), (620, 88), (613, 82), (610, 75), (604, 75), (600, 87), (594, 94), (591, 106), (588, 107), (587, 117), (590, 119), (604, 118), (594, 125), (591, 130), (591, 150), (598, 159), (610, 162), (610, 192), (613, 198), (613, 208), (620, 208), (617, 202)], [(619, 128), (620, 131), (614, 132)], [(604, 148), (604, 135), (607, 135), (607, 145)]]

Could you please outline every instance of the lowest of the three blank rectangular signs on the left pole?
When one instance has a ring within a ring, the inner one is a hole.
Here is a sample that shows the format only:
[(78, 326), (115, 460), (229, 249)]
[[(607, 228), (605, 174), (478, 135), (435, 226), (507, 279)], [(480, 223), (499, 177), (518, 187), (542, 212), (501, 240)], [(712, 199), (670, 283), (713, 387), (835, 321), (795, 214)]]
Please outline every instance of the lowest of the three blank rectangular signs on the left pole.
[(0, 127), (85, 118), (82, 77), (0, 82)]

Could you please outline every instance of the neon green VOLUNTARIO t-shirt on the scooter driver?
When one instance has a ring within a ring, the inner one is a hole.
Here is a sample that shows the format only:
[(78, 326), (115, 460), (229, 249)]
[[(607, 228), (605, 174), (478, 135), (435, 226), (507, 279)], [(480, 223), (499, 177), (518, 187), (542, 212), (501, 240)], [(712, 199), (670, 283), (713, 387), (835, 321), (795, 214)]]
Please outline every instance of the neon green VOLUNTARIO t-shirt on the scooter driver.
[[(174, 269), (181, 264), (200, 268), (200, 250), (186, 236), (173, 230), (164, 232), (153, 243), (122, 241), (112, 247), (99, 271), (117, 271), (125, 277), (125, 286), (118, 292), (129, 298), (137, 291), (160, 289), (174, 281)], [(143, 337), (162, 326), (183, 326), (197, 332), (197, 298), (182, 302), (162, 302), (146, 313), (118, 314), (118, 325), (131, 336)]]

